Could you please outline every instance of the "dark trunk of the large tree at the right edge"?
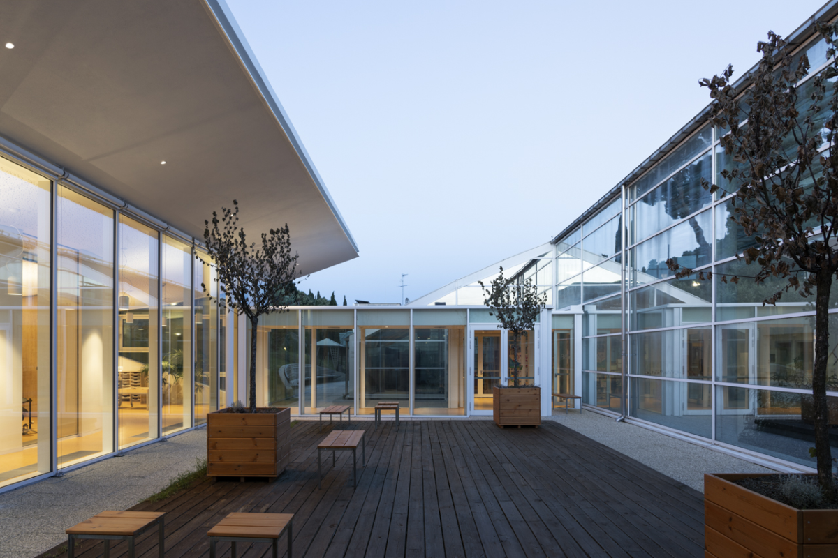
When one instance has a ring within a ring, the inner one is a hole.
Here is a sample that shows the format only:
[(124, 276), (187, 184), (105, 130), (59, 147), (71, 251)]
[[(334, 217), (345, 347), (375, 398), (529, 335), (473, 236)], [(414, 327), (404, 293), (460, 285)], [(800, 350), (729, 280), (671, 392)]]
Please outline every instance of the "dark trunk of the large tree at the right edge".
[(830, 354), (830, 289), (832, 274), (821, 271), (815, 294), (815, 370), (812, 371), (812, 398), (815, 400), (815, 455), (818, 483), (825, 496), (835, 494), (832, 477), (832, 450), (829, 437), (829, 407), (826, 404), (826, 365)]

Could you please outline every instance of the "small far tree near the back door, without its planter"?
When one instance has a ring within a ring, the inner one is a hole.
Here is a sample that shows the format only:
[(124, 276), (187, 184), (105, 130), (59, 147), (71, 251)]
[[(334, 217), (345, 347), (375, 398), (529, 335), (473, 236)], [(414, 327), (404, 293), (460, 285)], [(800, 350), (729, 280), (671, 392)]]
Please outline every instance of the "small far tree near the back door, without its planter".
[(521, 284), (513, 283), (514, 279), (504, 278), (504, 268), (500, 268), (500, 274), (492, 279), (489, 289), (478, 281), (480, 289), (486, 298), (484, 305), (492, 309), (489, 315), (494, 315), (500, 326), (509, 331), (512, 335), (510, 349), (512, 351), (512, 376), (513, 385), (520, 387), (519, 376), (521, 363), (518, 361), (520, 353), (521, 337), (527, 335), (527, 331), (535, 326), (535, 320), (541, 310), (547, 304), (547, 295), (539, 296), (538, 289), (532, 284), (532, 279), (527, 279)]

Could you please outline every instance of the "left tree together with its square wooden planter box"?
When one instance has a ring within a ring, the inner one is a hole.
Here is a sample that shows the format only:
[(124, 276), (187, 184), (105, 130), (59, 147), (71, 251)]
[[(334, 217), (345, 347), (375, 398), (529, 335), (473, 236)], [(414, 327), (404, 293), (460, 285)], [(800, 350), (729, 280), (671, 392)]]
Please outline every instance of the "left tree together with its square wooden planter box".
[[(207, 415), (207, 475), (277, 477), (288, 463), (291, 409), (256, 407), (256, 327), (261, 315), (287, 311), (283, 301), (297, 278), (297, 253), (291, 253), (287, 224), (263, 233), (261, 248), (248, 244), (235, 200), (233, 206), (223, 207), (220, 219), (213, 212), (204, 241), (225, 293), (219, 299), (222, 310), (230, 308), (251, 322), (250, 406), (235, 402)], [(202, 286), (209, 294), (209, 286)]]

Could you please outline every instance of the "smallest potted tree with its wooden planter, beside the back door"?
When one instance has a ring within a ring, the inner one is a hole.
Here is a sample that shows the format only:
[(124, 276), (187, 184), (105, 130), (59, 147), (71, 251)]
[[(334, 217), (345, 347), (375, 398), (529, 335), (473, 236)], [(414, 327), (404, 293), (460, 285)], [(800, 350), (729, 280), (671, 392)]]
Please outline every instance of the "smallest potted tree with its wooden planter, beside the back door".
[(504, 278), (504, 268), (492, 279), (489, 288), (478, 281), (485, 294), (484, 305), (492, 310), (489, 314), (497, 318), (499, 327), (510, 335), (509, 383), (508, 386), (492, 387), (492, 408), (494, 423), (499, 427), (541, 425), (541, 387), (525, 385), (520, 380), (523, 365), (520, 362), (521, 348), (535, 320), (547, 303), (547, 295), (539, 296), (531, 279), (516, 282), (515, 278)]

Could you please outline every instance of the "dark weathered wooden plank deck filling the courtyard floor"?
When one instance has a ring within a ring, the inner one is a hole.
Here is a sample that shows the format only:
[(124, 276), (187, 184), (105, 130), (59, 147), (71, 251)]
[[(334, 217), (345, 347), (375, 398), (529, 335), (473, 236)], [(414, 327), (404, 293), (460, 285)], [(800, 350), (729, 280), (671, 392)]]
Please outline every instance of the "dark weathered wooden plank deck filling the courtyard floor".
[[(318, 433), (318, 422), (300, 422), (279, 479), (208, 479), (132, 509), (167, 512), (167, 556), (208, 556), (207, 531), (233, 511), (295, 514), (297, 557), (704, 555), (701, 494), (555, 422), (501, 430), (489, 421), (402, 421), (396, 430), (388, 421), (377, 432), (372, 422), (349, 425), (361, 427), (367, 463), (358, 489), (346, 452), (318, 489), (317, 445), (332, 427)], [(330, 463), (323, 455), (324, 469)], [(137, 556), (156, 557), (156, 539), (142, 535)], [(102, 550), (85, 541), (76, 555)], [(229, 556), (230, 544), (219, 550)], [(126, 553), (125, 543), (111, 548), (111, 556)], [(240, 543), (239, 553), (270, 550)]]

